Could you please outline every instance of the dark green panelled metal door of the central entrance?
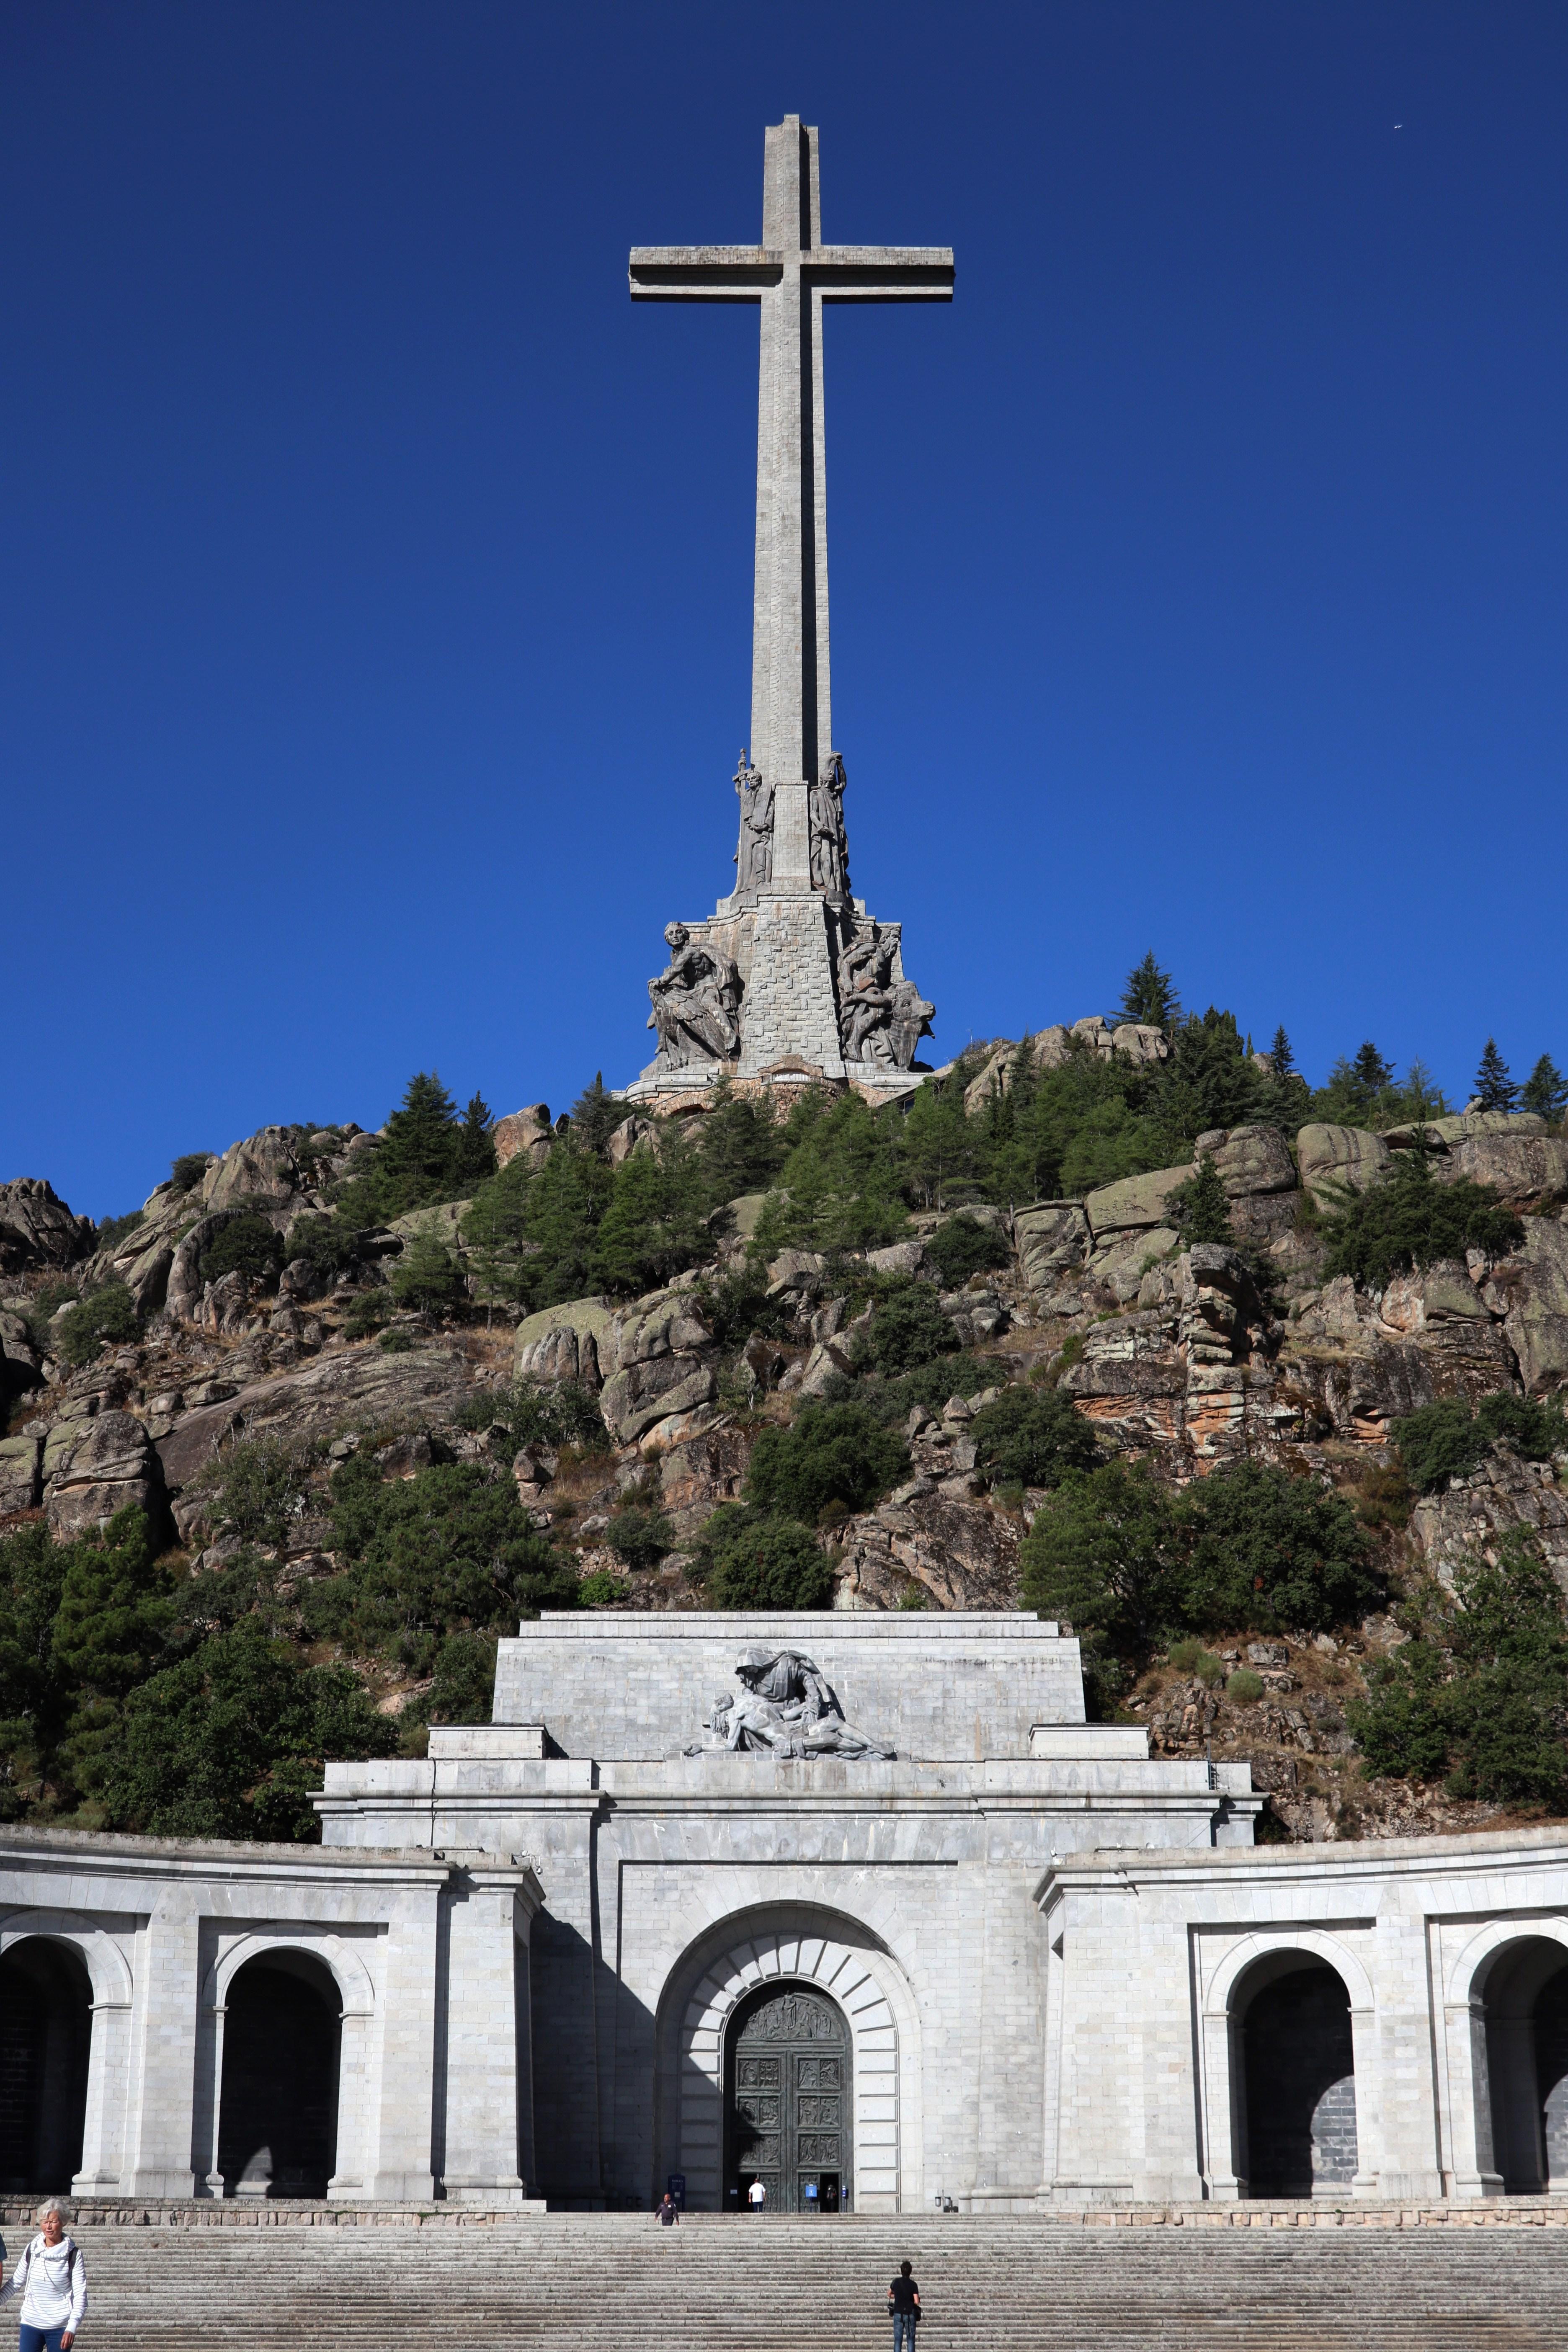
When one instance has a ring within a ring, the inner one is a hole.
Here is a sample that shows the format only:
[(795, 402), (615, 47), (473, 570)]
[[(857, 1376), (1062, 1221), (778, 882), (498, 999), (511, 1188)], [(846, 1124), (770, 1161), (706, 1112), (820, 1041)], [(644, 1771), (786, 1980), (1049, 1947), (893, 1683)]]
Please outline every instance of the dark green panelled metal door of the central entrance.
[[(724, 2206), (752, 2180), (769, 2213), (839, 2213), (851, 2192), (851, 2049), (837, 2002), (762, 1985), (736, 2006), (724, 2046)], [(816, 2197), (811, 2197), (816, 2190)]]

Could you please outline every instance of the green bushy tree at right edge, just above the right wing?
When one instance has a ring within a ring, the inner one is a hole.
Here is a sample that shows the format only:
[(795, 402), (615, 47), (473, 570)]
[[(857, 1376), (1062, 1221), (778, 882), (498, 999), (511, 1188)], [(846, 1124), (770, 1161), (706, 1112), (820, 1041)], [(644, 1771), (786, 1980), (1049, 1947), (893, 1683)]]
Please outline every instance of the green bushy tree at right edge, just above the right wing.
[(1453, 1797), (1568, 1802), (1568, 1625), (1552, 1569), (1512, 1529), (1495, 1564), (1425, 1585), (1410, 1639), (1345, 1719), (1373, 1776), (1443, 1780)]

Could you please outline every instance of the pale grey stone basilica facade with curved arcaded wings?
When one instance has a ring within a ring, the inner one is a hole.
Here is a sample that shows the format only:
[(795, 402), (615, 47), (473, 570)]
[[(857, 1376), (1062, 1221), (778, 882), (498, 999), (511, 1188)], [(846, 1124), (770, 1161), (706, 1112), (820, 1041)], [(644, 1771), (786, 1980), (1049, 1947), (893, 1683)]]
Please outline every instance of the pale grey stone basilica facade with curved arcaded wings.
[(0, 2187), (1051, 2211), (1568, 2176), (1568, 1832), (1258, 1846), (1032, 1616), (562, 1613), (320, 1846), (9, 1830)]

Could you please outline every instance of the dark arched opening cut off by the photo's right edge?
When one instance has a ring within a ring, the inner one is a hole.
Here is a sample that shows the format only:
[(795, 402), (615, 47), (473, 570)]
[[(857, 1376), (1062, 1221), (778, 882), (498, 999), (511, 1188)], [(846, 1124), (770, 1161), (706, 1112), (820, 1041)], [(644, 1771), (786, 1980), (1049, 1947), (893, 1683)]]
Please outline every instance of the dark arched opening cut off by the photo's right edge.
[(1483, 2002), (1493, 2166), (1507, 2197), (1542, 2197), (1568, 2180), (1568, 1952), (1507, 1945)]

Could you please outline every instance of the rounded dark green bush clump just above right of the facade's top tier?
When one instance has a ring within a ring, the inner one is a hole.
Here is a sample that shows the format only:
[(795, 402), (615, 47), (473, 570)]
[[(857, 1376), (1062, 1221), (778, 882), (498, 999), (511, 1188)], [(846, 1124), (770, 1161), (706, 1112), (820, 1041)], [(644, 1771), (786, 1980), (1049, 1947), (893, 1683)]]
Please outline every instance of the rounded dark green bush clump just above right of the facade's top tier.
[(1321, 1630), (1380, 1599), (1354, 1510), (1312, 1477), (1241, 1461), (1185, 1494), (1147, 1463), (1070, 1470), (1023, 1543), (1023, 1599), (1086, 1637), (1100, 1703), (1190, 1632)]

